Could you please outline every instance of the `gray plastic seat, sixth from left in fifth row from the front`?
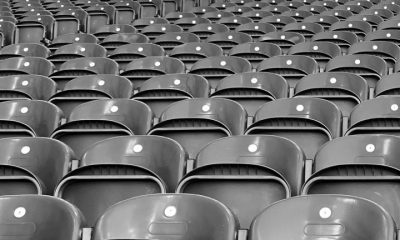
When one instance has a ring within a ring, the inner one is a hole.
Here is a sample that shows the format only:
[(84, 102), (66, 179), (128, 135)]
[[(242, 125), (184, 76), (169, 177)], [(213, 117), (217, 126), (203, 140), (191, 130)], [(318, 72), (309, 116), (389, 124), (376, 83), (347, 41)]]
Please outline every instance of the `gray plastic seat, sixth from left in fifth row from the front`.
[(381, 77), (386, 75), (387, 67), (380, 57), (358, 54), (333, 58), (327, 63), (325, 71), (357, 74), (367, 80), (369, 87), (373, 89)]

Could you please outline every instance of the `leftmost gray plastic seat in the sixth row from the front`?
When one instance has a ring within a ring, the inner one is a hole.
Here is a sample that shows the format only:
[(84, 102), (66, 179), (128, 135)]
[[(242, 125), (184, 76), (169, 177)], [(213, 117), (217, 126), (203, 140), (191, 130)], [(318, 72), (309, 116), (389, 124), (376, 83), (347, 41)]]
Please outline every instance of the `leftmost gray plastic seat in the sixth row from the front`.
[(0, 50), (0, 59), (12, 57), (41, 57), (47, 58), (50, 50), (36, 43), (20, 43), (5, 46)]

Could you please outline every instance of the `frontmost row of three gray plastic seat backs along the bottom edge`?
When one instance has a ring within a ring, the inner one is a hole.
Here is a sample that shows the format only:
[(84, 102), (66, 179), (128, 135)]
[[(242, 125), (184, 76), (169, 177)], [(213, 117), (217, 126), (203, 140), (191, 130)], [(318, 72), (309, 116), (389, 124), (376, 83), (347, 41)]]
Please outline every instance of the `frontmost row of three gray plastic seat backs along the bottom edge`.
[[(288, 209), (295, 209), (296, 215)], [(73, 205), (47, 196), (0, 197), (0, 210), (0, 226), (4, 226), (0, 234), (12, 239), (261, 240), (332, 234), (346, 239), (396, 239), (390, 214), (373, 202), (343, 195), (296, 197), (273, 204), (254, 218), (248, 238), (239, 235), (234, 214), (224, 204), (190, 194), (131, 198), (110, 207), (93, 228), (85, 228)]]

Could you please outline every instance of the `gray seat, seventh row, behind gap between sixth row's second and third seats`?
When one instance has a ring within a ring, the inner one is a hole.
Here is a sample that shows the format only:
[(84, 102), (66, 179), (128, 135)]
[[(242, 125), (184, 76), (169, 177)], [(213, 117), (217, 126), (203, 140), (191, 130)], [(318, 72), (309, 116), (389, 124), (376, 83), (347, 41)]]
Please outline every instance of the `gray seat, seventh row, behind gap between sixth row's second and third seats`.
[(125, 44), (148, 42), (150, 39), (141, 33), (117, 33), (104, 38), (100, 45), (112, 53), (116, 48)]

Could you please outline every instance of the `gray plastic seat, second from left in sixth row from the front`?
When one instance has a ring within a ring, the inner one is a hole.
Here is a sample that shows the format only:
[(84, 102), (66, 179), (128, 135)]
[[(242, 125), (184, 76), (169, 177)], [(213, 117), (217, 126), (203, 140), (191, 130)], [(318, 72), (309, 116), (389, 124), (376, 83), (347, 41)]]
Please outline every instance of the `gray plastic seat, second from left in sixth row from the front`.
[(59, 47), (47, 60), (50, 60), (56, 69), (68, 60), (83, 57), (106, 57), (107, 50), (95, 43), (71, 43)]

